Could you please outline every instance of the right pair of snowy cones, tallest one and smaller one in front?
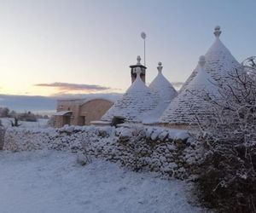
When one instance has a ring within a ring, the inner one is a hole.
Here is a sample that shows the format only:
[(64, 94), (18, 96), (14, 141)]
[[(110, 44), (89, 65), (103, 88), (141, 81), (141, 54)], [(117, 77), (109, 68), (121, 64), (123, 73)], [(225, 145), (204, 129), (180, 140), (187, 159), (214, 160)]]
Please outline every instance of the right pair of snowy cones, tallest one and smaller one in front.
[(159, 120), (160, 124), (183, 129), (195, 124), (195, 114), (199, 118), (211, 116), (211, 107), (208, 106), (207, 101), (204, 101), (203, 96), (208, 93), (218, 98), (218, 83), (223, 80), (228, 81), (230, 72), (241, 68), (241, 64), (220, 41), (219, 26), (215, 27), (213, 34), (214, 43), (207, 54), (201, 56), (198, 65), (183, 84), (177, 97), (163, 112)]

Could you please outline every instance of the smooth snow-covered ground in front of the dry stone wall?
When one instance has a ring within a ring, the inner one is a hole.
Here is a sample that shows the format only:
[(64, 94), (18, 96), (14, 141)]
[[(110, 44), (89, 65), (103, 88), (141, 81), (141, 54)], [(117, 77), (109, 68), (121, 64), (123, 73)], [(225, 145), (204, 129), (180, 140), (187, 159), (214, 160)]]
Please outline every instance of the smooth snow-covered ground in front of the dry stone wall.
[(201, 212), (185, 187), (73, 153), (0, 152), (1, 213)]

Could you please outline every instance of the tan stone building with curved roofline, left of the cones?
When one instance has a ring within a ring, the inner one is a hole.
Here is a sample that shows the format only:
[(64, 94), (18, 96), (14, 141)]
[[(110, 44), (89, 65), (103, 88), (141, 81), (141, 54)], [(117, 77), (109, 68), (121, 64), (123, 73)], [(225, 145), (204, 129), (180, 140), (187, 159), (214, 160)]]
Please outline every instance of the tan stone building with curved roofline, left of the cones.
[(90, 122), (102, 118), (112, 106), (113, 100), (106, 98), (57, 101), (57, 112), (54, 115), (55, 128), (66, 124), (89, 125)]

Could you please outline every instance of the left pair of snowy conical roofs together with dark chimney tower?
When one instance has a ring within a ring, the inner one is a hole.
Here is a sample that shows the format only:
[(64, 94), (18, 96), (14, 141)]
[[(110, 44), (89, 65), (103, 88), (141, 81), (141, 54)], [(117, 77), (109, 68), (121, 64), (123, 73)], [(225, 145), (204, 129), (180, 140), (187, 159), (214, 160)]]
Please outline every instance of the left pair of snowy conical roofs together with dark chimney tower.
[(149, 87), (145, 84), (146, 66), (141, 65), (137, 57), (137, 65), (131, 67), (131, 86), (125, 94), (113, 104), (101, 118), (102, 123), (111, 124), (113, 119), (121, 118), (125, 123), (155, 124), (177, 91), (162, 74), (159, 63), (158, 75)]

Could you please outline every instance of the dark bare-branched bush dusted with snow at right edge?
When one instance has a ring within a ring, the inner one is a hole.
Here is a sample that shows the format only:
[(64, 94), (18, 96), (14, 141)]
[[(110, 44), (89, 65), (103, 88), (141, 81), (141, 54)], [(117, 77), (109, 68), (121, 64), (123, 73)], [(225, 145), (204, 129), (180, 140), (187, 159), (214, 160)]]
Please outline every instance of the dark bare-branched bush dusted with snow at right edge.
[[(207, 152), (201, 163), (201, 200), (220, 212), (256, 212), (256, 82), (234, 71), (209, 96), (212, 118), (199, 122)], [(196, 115), (195, 115), (196, 116)]]

